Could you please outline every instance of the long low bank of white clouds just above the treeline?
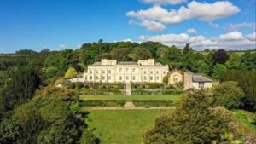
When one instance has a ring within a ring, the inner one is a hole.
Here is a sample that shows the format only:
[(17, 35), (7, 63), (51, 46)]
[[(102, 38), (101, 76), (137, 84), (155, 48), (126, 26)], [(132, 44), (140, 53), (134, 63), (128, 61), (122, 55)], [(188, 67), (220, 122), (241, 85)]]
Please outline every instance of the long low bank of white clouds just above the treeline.
[(196, 50), (202, 49), (227, 49), (227, 50), (243, 50), (255, 49), (255, 33), (246, 37), (241, 32), (230, 32), (219, 35), (218, 37), (207, 38), (204, 36), (189, 37), (188, 34), (163, 34), (156, 36), (140, 36), (140, 41), (160, 42), (169, 46), (176, 45), (183, 48), (185, 43), (190, 43), (191, 47)]

